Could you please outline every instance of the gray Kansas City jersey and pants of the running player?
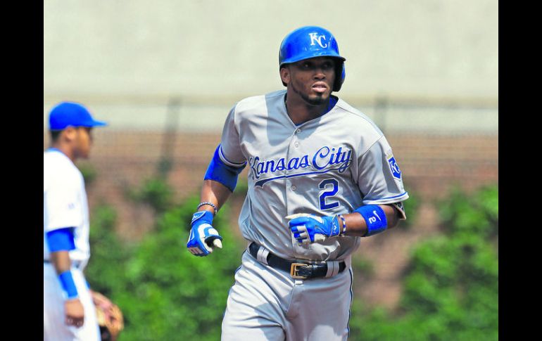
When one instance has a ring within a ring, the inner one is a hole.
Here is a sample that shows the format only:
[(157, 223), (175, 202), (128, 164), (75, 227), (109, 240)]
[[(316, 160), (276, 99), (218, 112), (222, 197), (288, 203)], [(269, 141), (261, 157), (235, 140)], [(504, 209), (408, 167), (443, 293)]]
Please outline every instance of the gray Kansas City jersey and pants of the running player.
[(220, 158), (248, 167), (239, 228), (279, 257), (344, 260), (347, 268), (329, 278), (294, 280), (245, 252), (229, 292), (222, 340), (346, 340), (351, 254), (360, 238), (298, 245), (284, 217), (348, 214), (361, 205), (408, 198), (391, 147), (367, 116), (339, 99), (329, 112), (296, 125), (285, 94), (245, 98), (226, 119)]

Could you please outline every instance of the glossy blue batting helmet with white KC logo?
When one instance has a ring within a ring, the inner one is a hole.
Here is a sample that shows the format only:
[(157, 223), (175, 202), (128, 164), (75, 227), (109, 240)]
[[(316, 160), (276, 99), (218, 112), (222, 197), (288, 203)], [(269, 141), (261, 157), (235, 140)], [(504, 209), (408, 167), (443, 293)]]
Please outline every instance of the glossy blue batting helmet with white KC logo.
[(315, 57), (333, 57), (339, 61), (339, 63), (336, 63), (336, 79), (333, 91), (341, 90), (346, 76), (344, 71), (344, 60), (346, 58), (339, 55), (339, 46), (332, 32), (322, 27), (300, 27), (288, 34), (280, 44), (279, 68), (285, 64)]

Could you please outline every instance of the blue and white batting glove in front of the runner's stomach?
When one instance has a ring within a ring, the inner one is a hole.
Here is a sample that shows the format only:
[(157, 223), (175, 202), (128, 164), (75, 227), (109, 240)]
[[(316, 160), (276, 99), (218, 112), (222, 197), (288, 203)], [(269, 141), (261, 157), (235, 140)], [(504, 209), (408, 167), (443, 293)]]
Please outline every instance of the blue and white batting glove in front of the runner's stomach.
[(322, 242), (326, 238), (339, 236), (339, 218), (318, 217), (314, 214), (298, 213), (286, 217), (289, 228), (299, 244)]

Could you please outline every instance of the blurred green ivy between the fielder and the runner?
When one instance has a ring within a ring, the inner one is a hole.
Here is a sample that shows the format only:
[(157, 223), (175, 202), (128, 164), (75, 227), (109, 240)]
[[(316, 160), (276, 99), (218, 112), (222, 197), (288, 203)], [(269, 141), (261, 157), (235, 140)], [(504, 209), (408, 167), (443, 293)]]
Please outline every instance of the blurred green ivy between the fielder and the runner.
[(196, 196), (173, 206), (171, 189), (158, 178), (129, 193), (156, 210), (155, 229), (137, 245), (127, 245), (115, 233), (115, 210), (97, 207), (91, 217), (86, 270), (91, 288), (123, 311), (125, 330), (119, 341), (193, 340), (194, 335), (197, 340), (220, 340), (227, 294), (244, 252), (227, 226), (228, 207), (213, 220), (224, 248), (195, 257), (186, 243), (199, 202)]

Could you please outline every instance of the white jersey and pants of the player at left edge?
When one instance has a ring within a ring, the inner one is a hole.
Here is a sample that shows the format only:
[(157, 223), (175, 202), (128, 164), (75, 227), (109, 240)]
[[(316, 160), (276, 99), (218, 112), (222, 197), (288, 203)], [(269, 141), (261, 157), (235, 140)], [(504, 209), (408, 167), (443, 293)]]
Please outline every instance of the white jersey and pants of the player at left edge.
[[(64, 297), (49, 261), (46, 233), (73, 227), (75, 250), (70, 251), (72, 274), (84, 307), (84, 326), (65, 325)], [(89, 210), (83, 176), (60, 150), (44, 152), (44, 340), (100, 340), (92, 297), (83, 270), (90, 257)]]

